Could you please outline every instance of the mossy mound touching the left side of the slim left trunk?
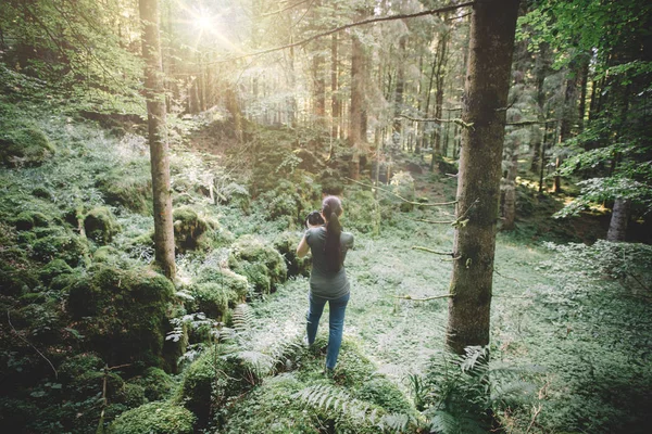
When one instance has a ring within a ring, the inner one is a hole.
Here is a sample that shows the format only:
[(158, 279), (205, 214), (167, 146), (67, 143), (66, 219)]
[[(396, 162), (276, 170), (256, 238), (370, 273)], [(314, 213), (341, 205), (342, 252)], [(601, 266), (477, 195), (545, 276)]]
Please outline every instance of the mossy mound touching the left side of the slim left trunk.
[(135, 213), (152, 214), (152, 183), (147, 161), (131, 161), (100, 175), (96, 187), (109, 205), (124, 206)]

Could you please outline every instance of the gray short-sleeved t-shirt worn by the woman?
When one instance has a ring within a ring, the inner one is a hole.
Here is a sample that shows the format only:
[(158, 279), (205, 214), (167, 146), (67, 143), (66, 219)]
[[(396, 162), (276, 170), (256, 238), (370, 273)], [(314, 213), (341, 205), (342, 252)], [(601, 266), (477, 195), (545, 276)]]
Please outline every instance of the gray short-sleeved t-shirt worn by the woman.
[(324, 244), (326, 244), (326, 228), (311, 228), (305, 232), (305, 241), (310, 245), (312, 253), (312, 271), (310, 272), (310, 291), (326, 299), (336, 299), (349, 293), (349, 279), (343, 261), (347, 257), (347, 251), (353, 247), (353, 234), (342, 232), (340, 235), (340, 246), (342, 250), (342, 267), (339, 271), (329, 271), (324, 254)]

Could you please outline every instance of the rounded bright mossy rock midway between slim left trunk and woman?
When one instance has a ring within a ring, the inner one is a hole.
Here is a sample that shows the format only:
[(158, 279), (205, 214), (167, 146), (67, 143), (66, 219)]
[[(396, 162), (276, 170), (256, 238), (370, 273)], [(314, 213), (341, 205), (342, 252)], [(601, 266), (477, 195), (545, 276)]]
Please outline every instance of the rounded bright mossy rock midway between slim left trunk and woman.
[(228, 266), (247, 277), (254, 291), (268, 294), (287, 279), (284, 257), (273, 246), (252, 235), (243, 235), (231, 246)]

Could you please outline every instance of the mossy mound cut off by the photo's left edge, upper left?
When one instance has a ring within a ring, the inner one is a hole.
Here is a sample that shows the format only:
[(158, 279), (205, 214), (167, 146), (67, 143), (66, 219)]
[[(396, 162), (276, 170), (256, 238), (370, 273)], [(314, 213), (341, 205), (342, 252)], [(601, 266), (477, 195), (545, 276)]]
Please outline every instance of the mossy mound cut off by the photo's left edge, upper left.
[(54, 151), (46, 135), (34, 126), (0, 132), (0, 161), (5, 166), (39, 166)]

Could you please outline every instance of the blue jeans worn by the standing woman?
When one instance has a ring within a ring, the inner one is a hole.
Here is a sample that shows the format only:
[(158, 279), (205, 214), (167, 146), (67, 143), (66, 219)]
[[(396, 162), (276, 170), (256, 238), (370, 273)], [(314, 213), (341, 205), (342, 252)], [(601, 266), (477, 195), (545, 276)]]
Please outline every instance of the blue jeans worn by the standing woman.
[(315, 336), (317, 335), (317, 328), (319, 327), (319, 318), (324, 312), (324, 306), (328, 302), (328, 308), (330, 310), (328, 317), (328, 350), (326, 352), (326, 368), (335, 368), (337, 363), (337, 356), (339, 355), (339, 348), (342, 345), (342, 332), (344, 329), (344, 312), (347, 310), (347, 304), (349, 303), (350, 294), (343, 295), (336, 299), (326, 299), (316, 295), (310, 294), (309, 307), (308, 307), (308, 343), (313, 344)]

